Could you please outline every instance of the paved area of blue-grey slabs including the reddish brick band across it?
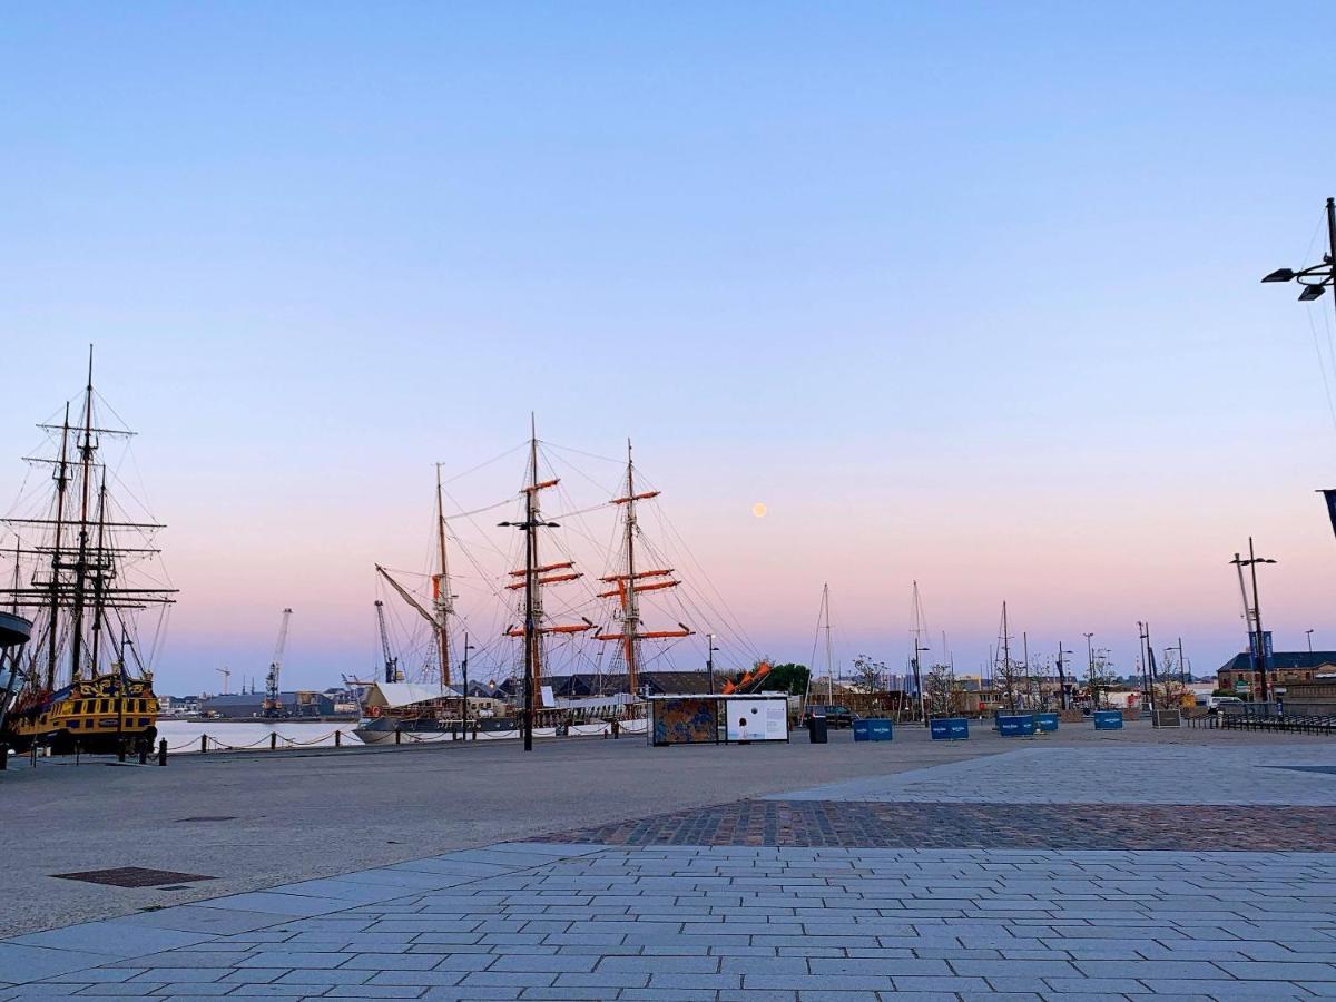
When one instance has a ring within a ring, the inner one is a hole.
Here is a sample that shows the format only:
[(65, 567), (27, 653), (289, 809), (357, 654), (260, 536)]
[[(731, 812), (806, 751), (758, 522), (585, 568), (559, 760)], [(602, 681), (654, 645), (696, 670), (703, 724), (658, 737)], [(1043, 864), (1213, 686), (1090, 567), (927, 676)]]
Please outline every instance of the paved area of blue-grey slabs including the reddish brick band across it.
[[(1035, 744), (13, 937), (0, 1002), (1336, 997), (1331, 776), (1292, 768), (1336, 745), (1144, 745), (1130, 779), (1128, 751)], [(1299, 803), (1214, 804), (1220, 771)], [(1047, 803), (1063, 784), (1108, 800)]]

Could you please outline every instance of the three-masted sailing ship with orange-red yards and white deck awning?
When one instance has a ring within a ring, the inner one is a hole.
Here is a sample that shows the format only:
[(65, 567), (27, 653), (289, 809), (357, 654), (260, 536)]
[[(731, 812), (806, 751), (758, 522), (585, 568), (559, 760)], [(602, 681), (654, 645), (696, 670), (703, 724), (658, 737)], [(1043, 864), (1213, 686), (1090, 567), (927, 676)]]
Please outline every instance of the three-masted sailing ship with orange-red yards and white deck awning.
[[(612, 600), (611, 608), (607, 609), (608, 621), (600, 627), (587, 616), (561, 619), (545, 612), (544, 596), (546, 591), (580, 581), (584, 572), (577, 569), (573, 558), (552, 556), (544, 562), (545, 558), (540, 554), (537, 529), (557, 528), (545, 520), (541, 498), (544, 492), (560, 484), (560, 478), (556, 476), (544, 477), (540, 473), (538, 438), (532, 428), (526, 452), (525, 480), (518, 492), (522, 504), (522, 521), (502, 522), (505, 528), (524, 530), (524, 566), (508, 570), (505, 580), (498, 587), (502, 595), (509, 592), (518, 600), (518, 621), (508, 625), (502, 636), (521, 641), (524, 669), (516, 685), (510, 687), (510, 692), (517, 695), (517, 701), (522, 701), (526, 707), (524, 716), (480, 717), (469, 715), (465, 696), (468, 675), (464, 676), (462, 687), (457, 688), (450, 684), (450, 635), (452, 623), (456, 619), (453, 601), (456, 596), (450, 589), (446, 516), (438, 470), (434, 533), (437, 564), (430, 573), (430, 605), (420, 600), (410, 588), (398, 580), (395, 572), (381, 565), (375, 566), (377, 574), (390, 589), (430, 625), (438, 668), (437, 687), (433, 692), (430, 685), (390, 681), (387, 668), (386, 681), (373, 685), (363, 700), (363, 716), (355, 729), (357, 736), (363, 741), (398, 740), (398, 736), (403, 733), (418, 739), (441, 737), (450, 732), (462, 736), (465, 727), (469, 731), (513, 732), (521, 728), (525, 719), (530, 727), (538, 728), (557, 728), (572, 723), (611, 724), (612, 720), (617, 720), (621, 725), (640, 716), (639, 688), (643, 641), (692, 635), (691, 628), (681, 623), (672, 628), (647, 629), (641, 619), (641, 596), (644, 593), (664, 592), (676, 588), (680, 581), (672, 568), (645, 566), (637, 560), (637, 544), (641, 538), (639, 505), (657, 497), (659, 492), (637, 489), (636, 466), (629, 442), (627, 444), (623, 489), (617, 497), (607, 502), (620, 514), (620, 553), (616, 558), (616, 568), (599, 578), (603, 591), (595, 595), (597, 600)], [(397, 663), (397, 659), (393, 657), (383, 635), (383, 623), (381, 625), (382, 649), (389, 667), (391, 661)], [(549, 671), (548, 641), (578, 636), (592, 637), (600, 644), (608, 644), (615, 651), (612, 660), (624, 668), (625, 691), (600, 692), (584, 700), (548, 701), (546, 696), (550, 696), (550, 689), (544, 683)], [(468, 643), (465, 643), (465, 648), (469, 648)], [(464, 665), (466, 664), (468, 661), (464, 660)]]

